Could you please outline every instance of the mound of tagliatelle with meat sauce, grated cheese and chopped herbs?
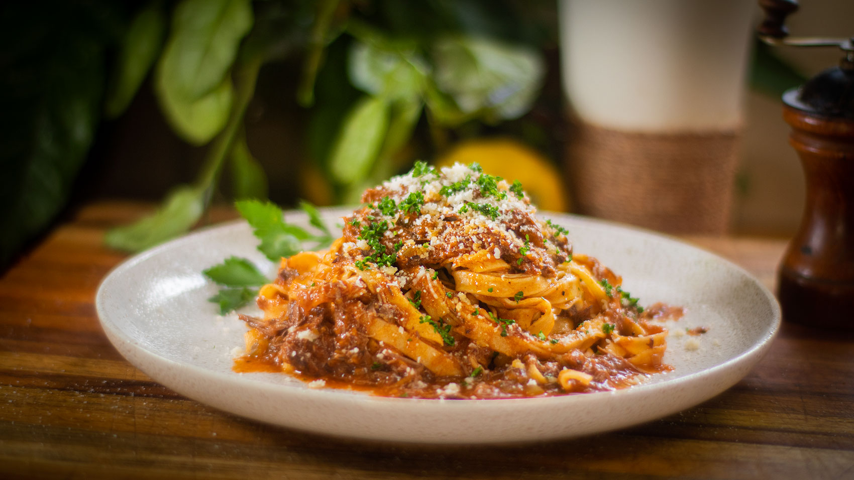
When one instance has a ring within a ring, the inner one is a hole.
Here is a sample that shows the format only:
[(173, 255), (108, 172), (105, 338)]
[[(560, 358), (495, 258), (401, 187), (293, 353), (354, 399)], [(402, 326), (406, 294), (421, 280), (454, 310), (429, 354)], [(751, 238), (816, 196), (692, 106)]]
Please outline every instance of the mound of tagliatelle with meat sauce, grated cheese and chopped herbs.
[(377, 395), (505, 398), (616, 389), (666, 369), (667, 331), (573, 255), (518, 182), (477, 164), (367, 190), (328, 251), (284, 258), (237, 369)]

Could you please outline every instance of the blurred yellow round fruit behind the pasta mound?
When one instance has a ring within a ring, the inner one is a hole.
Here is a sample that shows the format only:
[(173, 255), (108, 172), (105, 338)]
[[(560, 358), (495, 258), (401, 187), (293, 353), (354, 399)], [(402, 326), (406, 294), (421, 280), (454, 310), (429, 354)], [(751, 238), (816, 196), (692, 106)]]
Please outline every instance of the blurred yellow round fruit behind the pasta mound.
[(477, 161), (483, 172), (518, 180), (534, 204), (542, 210), (569, 211), (569, 190), (563, 175), (543, 155), (522, 143), (505, 138), (469, 140), (453, 147), (436, 161), (436, 167)]

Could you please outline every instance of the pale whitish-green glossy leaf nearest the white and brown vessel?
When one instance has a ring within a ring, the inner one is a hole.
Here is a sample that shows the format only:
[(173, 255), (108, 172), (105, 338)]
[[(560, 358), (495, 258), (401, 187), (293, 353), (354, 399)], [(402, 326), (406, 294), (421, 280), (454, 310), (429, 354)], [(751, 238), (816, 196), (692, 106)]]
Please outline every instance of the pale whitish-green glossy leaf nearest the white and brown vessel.
[(488, 122), (512, 120), (527, 112), (545, 73), (535, 50), (489, 38), (447, 36), (431, 50), (434, 79), (463, 114)]

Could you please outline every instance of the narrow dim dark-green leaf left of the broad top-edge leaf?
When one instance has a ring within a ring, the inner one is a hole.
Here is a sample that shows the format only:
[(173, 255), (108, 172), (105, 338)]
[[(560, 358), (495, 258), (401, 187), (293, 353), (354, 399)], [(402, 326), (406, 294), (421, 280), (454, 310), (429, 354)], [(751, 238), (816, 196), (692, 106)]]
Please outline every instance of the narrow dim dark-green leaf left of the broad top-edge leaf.
[(139, 11), (122, 40), (119, 56), (109, 83), (104, 114), (115, 118), (122, 114), (154, 65), (166, 32), (166, 15), (159, 2)]

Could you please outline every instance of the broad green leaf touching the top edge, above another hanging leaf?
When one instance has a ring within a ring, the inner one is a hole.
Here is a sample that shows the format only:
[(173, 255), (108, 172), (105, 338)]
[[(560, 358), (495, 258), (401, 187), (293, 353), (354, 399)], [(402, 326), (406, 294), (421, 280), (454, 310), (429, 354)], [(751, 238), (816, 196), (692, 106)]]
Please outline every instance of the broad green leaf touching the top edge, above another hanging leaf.
[(183, 0), (161, 57), (163, 84), (193, 102), (218, 90), (252, 27), (250, 0)]

